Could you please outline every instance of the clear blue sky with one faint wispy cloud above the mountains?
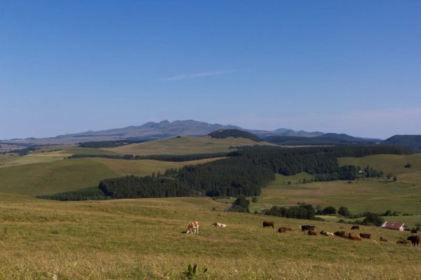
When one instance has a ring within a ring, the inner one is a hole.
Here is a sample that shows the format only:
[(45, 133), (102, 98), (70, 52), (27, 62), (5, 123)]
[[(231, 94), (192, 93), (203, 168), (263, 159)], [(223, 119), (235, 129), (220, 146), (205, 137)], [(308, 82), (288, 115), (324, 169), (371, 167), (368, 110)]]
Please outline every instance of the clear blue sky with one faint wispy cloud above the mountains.
[(1, 1), (0, 139), (147, 121), (421, 134), (421, 1)]

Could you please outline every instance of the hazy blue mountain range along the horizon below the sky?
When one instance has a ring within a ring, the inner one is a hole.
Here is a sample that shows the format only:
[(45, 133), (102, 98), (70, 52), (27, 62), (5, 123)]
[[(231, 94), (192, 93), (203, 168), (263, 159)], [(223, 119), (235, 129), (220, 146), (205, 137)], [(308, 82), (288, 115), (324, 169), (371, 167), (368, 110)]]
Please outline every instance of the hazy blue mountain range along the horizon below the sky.
[[(32, 145), (67, 145), (88, 141), (113, 140), (151, 140), (183, 136), (203, 136), (219, 130), (243, 130), (250, 132), (265, 141), (287, 146), (300, 145), (349, 145), (349, 144), (395, 144), (420, 148), (420, 136), (394, 136), (390, 141), (381, 139), (367, 139), (352, 137), (348, 134), (307, 132), (305, 130), (290, 130), (279, 128), (277, 130), (248, 130), (236, 125), (210, 124), (197, 120), (162, 120), (159, 123), (149, 122), (138, 126), (114, 128), (111, 130), (86, 131), (74, 134), (62, 134), (50, 138), (11, 139), (0, 141), (0, 144), (13, 144), (22, 146)], [(409, 139), (408, 139), (409, 137)], [(409, 145), (410, 144), (410, 145)]]

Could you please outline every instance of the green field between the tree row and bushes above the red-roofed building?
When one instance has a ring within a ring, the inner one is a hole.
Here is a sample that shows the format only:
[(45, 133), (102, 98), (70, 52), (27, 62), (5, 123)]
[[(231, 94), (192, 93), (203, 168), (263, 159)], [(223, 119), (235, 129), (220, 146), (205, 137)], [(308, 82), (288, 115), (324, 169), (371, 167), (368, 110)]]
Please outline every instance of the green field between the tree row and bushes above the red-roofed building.
[[(288, 185), (285, 176), (276, 179), (262, 189), (260, 207), (271, 204), (296, 205), (298, 202), (333, 206), (345, 206), (353, 214), (363, 211), (384, 213), (387, 209), (409, 214), (421, 214), (421, 187), (406, 183), (385, 182), (384, 179), (359, 181), (330, 181)], [(256, 206), (258, 207), (258, 206)]]

